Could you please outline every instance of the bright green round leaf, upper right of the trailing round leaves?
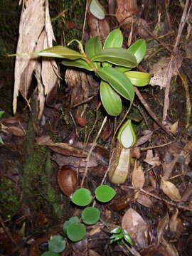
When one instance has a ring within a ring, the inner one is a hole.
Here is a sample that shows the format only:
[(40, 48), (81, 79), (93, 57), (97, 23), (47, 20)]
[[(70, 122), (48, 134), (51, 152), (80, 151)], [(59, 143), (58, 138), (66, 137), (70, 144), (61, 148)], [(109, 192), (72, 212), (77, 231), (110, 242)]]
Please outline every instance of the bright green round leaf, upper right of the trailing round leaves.
[(114, 198), (115, 195), (116, 192), (114, 191), (114, 189), (108, 185), (101, 185), (95, 189), (95, 196), (97, 200), (102, 203), (109, 202), (110, 200), (112, 200), (112, 198)]

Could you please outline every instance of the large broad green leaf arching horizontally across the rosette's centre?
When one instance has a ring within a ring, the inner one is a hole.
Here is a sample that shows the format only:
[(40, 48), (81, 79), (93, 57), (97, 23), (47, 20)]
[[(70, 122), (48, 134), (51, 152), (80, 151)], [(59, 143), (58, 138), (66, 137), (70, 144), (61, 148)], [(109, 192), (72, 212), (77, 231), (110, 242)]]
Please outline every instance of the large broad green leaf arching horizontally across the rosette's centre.
[(108, 62), (114, 65), (121, 65), (127, 68), (137, 66), (137, 59), (134, 54), (124, 48), (107, 48), (91, 58), (92, 61)]

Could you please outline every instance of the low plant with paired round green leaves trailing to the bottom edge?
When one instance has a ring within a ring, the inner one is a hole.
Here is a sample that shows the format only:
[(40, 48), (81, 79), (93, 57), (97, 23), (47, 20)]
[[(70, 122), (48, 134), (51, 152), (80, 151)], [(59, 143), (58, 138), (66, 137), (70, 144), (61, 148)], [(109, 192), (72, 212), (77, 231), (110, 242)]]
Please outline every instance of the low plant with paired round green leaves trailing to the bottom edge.
[[(95, 198), (101, 203), (107, 203), (112, 200), (116, 192), (107, 185), (98, 186), (95, 189)], [(92, 201), (91, 192), (87, 188), (79, 188), (71, 196), (71, 201), (77, 206), (87, 206)], [(95, 207), (86, 207), (82, 210), (81, 220), (73, 216), (63, 224), (63, 233), (72, 242), (78, 242), (85, 238), (86, 225), (93, 225), (100, 220), (100, 210)], [(82, 221), (82, 223), (81, 223)], [(41, 256), (58, 256), (58, 252), (65, 250), (65, 239), (61, 235), (55, 235), (48, 242), (48, 251), (43, 252)]]

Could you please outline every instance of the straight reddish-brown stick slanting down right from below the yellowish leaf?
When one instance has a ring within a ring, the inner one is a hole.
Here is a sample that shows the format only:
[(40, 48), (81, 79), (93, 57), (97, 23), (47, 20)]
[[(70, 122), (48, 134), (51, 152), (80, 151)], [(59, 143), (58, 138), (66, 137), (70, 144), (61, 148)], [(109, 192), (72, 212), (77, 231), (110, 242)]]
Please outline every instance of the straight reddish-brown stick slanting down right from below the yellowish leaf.
[(141, 93), (139, 92), (139, 90), (137, 89), (137, 87), (134, 86), (134, 92), (136, 93), (137, 97), (139, 97), (139, 100), (141, 100), (142, 104), (144, 105), (146, 111), (149, 113), (149, 115), (154, 119), (154, 121), (156, 122), (156, 124), (159, 125), (159, 127), (161, 127), (164, 132), (166, 132), (167, 134), (174, 136), (174, 134), (171, 133), (171, 131), (169, 131), (169, 129), (166, 129), (166, 127), (164, 127), (164, 124), (161, 124), (161, 122), (159, 121), (159, 119), (156, 117), (156, 114), (151, 110), (151, 108), (149, 107), (149, 105), (146, 103), (146, 101), (144, 100), (144, 97), (141, 95)]

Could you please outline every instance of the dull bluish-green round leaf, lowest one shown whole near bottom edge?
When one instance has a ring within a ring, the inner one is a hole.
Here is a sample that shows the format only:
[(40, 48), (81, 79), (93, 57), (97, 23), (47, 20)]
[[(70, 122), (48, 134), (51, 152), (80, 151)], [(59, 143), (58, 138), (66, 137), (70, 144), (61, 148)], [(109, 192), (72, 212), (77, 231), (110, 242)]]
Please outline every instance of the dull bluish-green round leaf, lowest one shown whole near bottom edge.
[(48, 250), (50, 250), (50, 252), (63, 252), (65, 244), (66, 242), (61, 235), (54, 235), (48, 241)]

